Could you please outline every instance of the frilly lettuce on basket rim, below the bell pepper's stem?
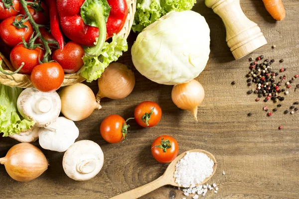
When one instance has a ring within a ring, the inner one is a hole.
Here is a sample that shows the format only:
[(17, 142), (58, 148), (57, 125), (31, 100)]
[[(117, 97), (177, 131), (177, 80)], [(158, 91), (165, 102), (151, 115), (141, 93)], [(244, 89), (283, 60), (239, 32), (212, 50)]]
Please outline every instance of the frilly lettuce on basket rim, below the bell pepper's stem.
[(101, 77), (105, 68), (114, 61), (117, 61), (120, 56), (123, 55), (123, 51), (128, 50), (128, 43), (125, 38), (120, 35), (114, 35), (112, 42), (104, 43), (101, 55), (99, 57), (93, 57), (89, 55), (83, 56), (83, 67), (79, 70), (82, 77), (87, 82), (92, 82)]

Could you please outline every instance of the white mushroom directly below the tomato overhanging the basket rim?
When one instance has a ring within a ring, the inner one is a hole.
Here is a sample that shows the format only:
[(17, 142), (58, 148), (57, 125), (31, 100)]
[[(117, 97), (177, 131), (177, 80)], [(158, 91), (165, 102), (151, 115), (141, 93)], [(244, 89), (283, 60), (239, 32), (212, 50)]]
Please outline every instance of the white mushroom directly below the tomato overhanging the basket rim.
[(56, 92), (43, 93), (34, 88), (25, 89), (18, 97), (17, 109), (35, 126), (46, 127), (56, 121), (61, 110), (61, 100)]

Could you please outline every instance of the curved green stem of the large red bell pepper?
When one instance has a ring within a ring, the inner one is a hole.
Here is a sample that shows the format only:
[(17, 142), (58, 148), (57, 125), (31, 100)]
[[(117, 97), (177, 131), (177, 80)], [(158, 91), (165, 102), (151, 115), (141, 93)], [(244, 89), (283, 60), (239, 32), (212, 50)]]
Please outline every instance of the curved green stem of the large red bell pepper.
[(106, 41), (106, 34), (107, 34), (107, 28), (106, 28), (106, 21), (103, 13), (97, 9), (97, 7), (93, 7), (92, 9), (89, 9), (89, 16), (94, 17), (96, 20), (97, 26), (99, 28), (99, 37), (97, 40), (97, 44), (91, 48), (87, 48), (85, 51), (87, 54), (99, 57), (101, 55), (104, 43)]

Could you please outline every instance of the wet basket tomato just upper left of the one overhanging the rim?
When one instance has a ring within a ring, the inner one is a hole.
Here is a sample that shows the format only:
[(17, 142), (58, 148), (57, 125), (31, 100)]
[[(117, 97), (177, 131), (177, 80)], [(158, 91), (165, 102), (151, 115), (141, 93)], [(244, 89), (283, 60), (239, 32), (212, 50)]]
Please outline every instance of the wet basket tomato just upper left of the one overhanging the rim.
[(24, 66), (21, 68), (19, 73), (30, 74), (33, 68), (39, 65), (38, 57), (42, 59), (44, 52), (41, 48), (37, 47), (35, 49), (25, 48), (23, 44), (15, 46), (10, 52), (10, 62), (15, 70), (17, 70), (22, 62)]

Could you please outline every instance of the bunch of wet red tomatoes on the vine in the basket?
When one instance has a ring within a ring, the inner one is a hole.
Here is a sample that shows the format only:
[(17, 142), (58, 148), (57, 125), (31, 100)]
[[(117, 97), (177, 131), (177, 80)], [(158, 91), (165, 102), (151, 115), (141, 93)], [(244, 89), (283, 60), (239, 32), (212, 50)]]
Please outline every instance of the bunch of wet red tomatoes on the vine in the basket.
[[(9, 4), (7, 6), (10, 1), (4, 2), (6, 5), (0, 1), (0, 38), (10, 49), (11, 65), (15, 70), (22, 66), (18, 73), (30, 75), (33, 86), (39, 91), (57, 90), (63, 83), (64, 73), (75, 73), (83, 66), (84, 49), (80, 44), (70, 41), (61, 50), (50, 31), (39, 27), (40, 34), (49, 41), (51, 59), (54, 60), (42, 63), (45, 54), (43, 42), (38, 37), (34, 40), (36, 32), (27, 16), (24, 16), (25, 11), (19, 0), (11, 0), (10, 7)], [(39, 5), (39, 9), (32, 8), (30, 4), (27, 8), (36, 24), (47, 26), (50, 20), (49, 9), (43, 1)]]

